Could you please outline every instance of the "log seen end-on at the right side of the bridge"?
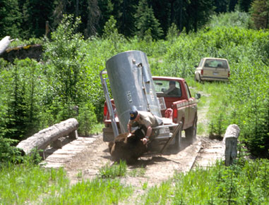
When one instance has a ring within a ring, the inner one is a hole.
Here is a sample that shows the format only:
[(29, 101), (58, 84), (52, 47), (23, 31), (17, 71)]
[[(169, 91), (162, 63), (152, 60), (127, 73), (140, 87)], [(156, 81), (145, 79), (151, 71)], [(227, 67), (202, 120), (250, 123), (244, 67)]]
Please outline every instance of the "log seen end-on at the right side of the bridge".
[(239, 136), (240, 129), (238, 125), (229, 125), (223, 142), (225, 144), (225, 166), (229, 166), (237, 158), (237, 138)]

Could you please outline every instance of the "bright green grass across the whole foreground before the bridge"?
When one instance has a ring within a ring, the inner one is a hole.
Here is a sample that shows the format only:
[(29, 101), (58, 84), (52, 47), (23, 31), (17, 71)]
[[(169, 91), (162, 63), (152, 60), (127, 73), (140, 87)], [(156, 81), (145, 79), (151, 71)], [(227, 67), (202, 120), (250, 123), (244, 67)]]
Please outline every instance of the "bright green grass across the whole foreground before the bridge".
[[(116, 166), (125, 169), (124, 162)], [(112, 166), (113, 167), (113, 166)], [(108, 167), (107, 169), (111, 169)], [(30, 163), (2, 166), (0, 204), (268, 204), (269, 161), (239, 159), (226, 167), (217, 162), (210, 168), (175, 173), (160, 185), (141, 184), (145, 194), (132, 198), (136, 187), (120, 178), (82, 180), (70, 186), (63, 169), (45, 170)], [(138, 171), (139, 172), (139, 171)], [(119, 178), (120, 177), (120, 178)], [(134, 201), (130, 201), (134, 200)]]

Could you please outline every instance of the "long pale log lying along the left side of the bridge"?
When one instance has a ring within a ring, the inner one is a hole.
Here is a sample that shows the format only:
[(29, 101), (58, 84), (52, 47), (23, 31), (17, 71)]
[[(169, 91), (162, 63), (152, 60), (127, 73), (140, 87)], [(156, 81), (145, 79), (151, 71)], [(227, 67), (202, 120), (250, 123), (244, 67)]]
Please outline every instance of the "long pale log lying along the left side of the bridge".
[(45, 149), (49, 144), (59, 139), (59, 137), (69, 136), (76, 139), (78, 136), (77, 129), (78, 121), (75, 118), (70, 118), (49, 128), (40, 130), (35, 135), (21, 141), (17, 147), (22, 149), (24, 154), (30, 154), (33, 149)]

